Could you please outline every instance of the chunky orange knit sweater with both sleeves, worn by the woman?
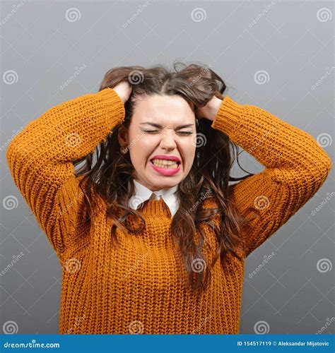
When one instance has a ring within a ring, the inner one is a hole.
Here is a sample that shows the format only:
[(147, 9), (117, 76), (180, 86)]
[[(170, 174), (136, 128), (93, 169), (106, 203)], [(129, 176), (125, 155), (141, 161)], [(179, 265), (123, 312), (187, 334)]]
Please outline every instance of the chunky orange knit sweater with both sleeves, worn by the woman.
[[(101, 200), (95, 231), (76, 227), (83, 192), (71, 161), (95, 150), (123, 120), (122, 100), (105, 88), (50, 108), (8, 146), (13, 180), (62, 265), (59, 333), (240, 333), (244, 261), (228, 256), (222, 268), (218, 260), (206, 292), (192, 294), (163, 199), (144, 204), (141, 234), (117, 230), (117, 249), (111, 246), (112, 224)], [(261, 212), (243, 234), (245, 258), (317, 192), (331, 160), (308, 133), (228, 96), (211, 127), (265, 167), (233, 185), (240, 212), (252, 205)], [(215, 242), (211, 228), (204, 232)]]

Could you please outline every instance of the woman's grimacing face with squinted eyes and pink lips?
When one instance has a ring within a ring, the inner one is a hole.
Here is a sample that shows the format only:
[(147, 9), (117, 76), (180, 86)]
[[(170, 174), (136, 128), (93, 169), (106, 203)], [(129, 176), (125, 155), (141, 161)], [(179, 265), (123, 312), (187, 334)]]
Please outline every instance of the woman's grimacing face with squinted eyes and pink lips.
[[(187, 177), (194, 161), (194, 112), (178, 95), (138, 98), (129, 131), (119, 129), (119, 143), (129, 146), (136, 181), (151, 191), (171, 188)], [(151, 160), (155, 156), (177, 157), (180, 164), (177, 169), (176, 165), (164, 167), (162, 160), (154, 165)]]

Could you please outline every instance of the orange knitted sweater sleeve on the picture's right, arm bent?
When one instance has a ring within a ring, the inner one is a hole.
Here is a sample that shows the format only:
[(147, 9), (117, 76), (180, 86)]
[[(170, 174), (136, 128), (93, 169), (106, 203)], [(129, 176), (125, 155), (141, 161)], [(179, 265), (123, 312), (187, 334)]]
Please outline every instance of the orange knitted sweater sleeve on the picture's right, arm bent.
[[(247, 257), (314, 196), (331, 170), (331, 160), (310, 134), (228, 96), (211, 127), (265, 167), (230, 186), (237, 210), (251, 220), (249, 230), (242, 232)], [(252, 208), (259, 210), (255, 218)]]

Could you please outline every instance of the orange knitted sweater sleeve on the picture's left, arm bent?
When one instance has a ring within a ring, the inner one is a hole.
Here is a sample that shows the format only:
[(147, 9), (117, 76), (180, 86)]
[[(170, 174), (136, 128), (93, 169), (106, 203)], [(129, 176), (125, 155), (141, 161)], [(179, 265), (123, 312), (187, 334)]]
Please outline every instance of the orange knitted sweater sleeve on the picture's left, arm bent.
[(124, 113), (117, 92), (105, 88), (48, 109), (8, 145), (13, 181), (58, 256), (71, 242), (83, 198), (71, 161), (93, 152)]

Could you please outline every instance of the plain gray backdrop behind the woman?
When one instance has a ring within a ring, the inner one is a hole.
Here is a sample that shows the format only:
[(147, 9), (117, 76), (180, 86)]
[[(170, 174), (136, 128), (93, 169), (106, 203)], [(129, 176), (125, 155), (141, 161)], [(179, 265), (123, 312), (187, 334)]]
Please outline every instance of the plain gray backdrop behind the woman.
[[(50, 107), (96, 92), (110, 68), (210, 64), (225, 94), (310, 133), (333, 157), (332, 1), (2, 1), (1, 20), (1, 329), (14, 321), (16, 333), (58, 333), (61, 291), (59, 261), (11, 179), (6, 146)], [(240, 160), (263, 169), (247, 152)], [(333, 235), (331, 170), (247, 258), (241, 333), (334, 333)]]

